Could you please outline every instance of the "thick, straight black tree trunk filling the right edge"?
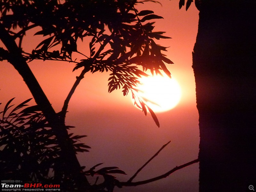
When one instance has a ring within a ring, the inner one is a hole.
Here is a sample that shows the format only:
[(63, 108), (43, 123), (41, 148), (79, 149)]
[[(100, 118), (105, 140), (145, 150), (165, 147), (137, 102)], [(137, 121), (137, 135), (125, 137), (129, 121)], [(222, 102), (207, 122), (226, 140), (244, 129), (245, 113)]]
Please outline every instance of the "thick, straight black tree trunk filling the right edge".
[(256, 182), (255, 0), (202, 1), (193, 69), (200, 192), (246, 191)]

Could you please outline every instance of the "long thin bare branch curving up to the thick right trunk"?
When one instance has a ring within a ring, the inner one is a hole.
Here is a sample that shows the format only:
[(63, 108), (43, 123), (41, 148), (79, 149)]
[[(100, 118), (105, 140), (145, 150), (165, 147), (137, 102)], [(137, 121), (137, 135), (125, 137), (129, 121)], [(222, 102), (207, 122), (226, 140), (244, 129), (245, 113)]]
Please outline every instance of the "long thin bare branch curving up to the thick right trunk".
[(138, 185), (144, 185), (144, 184), (147, 184), (147, 183), (151, 183), (151, 182), (154, 182), (154, 181), (157, 181), (157, 180), (160, 180), (160, 179), (163, 179), (163, 178), (166, 178), (168, 177), (169, 175), (171, 175), (173, 172), (175, 171), (178, 171), (184, 167), (187, 167), (189, 165), (192, 165), (194, 163), (197, 163), (199, 162), (199, 159), (195, 159), (193, 161), (190, 161), (188, 163), (185, 163), (183, 165), (180, 165), (180, 166), (177, 166), (175, 168), (173, 168), (172, 170), (164, 173), (163, 175), (160, 175), (160, 176), (157, 176), (157, 177), (154, 177), (154, 178), (151, 178), (151, 179), (148, 179), (148, 180), (144, 180), (144, 181), (137, 181), (137, 182), (119, 182), (118, 184), (121, 185), (121, 186), (138, 186)]

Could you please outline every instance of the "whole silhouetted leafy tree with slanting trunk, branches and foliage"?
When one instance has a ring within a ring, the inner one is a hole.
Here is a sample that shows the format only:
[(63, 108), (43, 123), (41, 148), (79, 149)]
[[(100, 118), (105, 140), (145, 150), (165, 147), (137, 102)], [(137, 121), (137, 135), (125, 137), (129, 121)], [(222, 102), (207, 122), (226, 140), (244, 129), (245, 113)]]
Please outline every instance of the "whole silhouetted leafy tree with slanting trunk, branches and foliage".
[[(132, 97), (137, 97), (135, 105), (145, 115), (149, 112), (160, 126), (152, 109), (137, 96), (136, 85), (138, 77), (147, 76), (145, 70), (152, 74), (163, 71), (171, 77), (165, 63), (173, 62), (161, 52), (167, 47), (155, 42), (170, 37), (164, 36), (164, 32), (153, 32), (151, 20), (162, 17), (151, 10), (138, 11), (135, 6), (143, 2), (147, 1), (0, 1), (0, 39), (4, 45), (0, 48), (0, 60), (7, 60), (19, 72), (37, 104), (27, 107), (29, 100), (26, 100), (14, 107), (11, 99), (1, 112), (1, 178), (14, 180), (22, 176), (30, 182), (60, 183), (63, 191), (113, 191), (115, 186), (135, 186), (164, 178), (198, 161), (176, 167), (156, 178), (132, 182), (139, 170), (127, 182), (119, 182), (111, 175), (125, 174), (118, 167), (95, 171), (101, 165), (97, 164), (86, 170), (77, 160), (76, 153), (88, 151), (90, 147), (78, 141), (85, 135), (68, 133), (72, 126), (65, 124), (65, 117), (68, 103), (87, 72), (110, 71), (108, 92), (116, 89), (122, 89), (123, 95), (132, 92)], [(32, 52), (25, 52), (23, 37), (29, 30), (36, 30), (34, 35), (44, 40)], [(89, 46), (88, 55), (77, 46), (77, 42), (84, 39)], [(83, 59), (72, 58), (74, 53)], [(75, 64), (73, 71), (81, 70), (60, 112), (52, 108), (30, 70), (28, 62), (33, 60), (70, 62)], [(98, 183), (96, 179), (95, 184), (91, 184), (87, 179), (90, 175), (100, 175), (104, 181)]]

